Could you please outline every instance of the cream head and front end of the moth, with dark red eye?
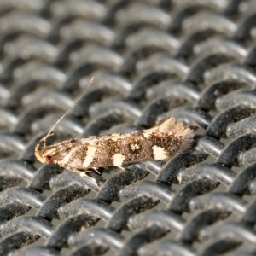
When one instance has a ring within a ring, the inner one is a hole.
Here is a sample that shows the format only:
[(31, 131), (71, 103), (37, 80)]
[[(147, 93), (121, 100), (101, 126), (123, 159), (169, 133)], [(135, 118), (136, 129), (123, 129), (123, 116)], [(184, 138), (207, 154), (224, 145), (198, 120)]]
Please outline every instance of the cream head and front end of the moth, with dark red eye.
[(43, 164), (60, 163), (61, 160), (63, 160), (65, 156), (70, 152), (72, 144), (73, 143), (70, 141), (65, 141), (52, 146), (44, 147), (41, 150), (38, 148), (38, 151), (36, 148), (35, 155), (37, 159)]

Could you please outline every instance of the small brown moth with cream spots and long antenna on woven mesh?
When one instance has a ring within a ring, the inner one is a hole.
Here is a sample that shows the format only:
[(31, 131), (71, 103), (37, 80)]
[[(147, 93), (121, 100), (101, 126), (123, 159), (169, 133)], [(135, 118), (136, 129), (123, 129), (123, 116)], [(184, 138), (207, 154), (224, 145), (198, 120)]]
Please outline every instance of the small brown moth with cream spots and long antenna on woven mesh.
[[(92, 80), (90, 80), (90, 84)], [(83, 96), (79, 98), (79, 101)], [(193, 130), (171, 117), (160, 121), (159, 124), (148, 130), (73, 138), (46, 146), (46, 139), (52, 135), (51, 131), (61, 119), (50, 129), (47, 136), (38, 142), (35, 155), (42, 163), (56, 163), (67, 170), (79, 173), (82, 177), (85, 177), (84, 172), (90, 172), (88, 169), (94, 169), (97, 172), (98, 167), (120, 167), (145, 160), (170, 158), (188, 148), (193, 142), (194, 136)], [(42, 142), (44, 142), (44, 147), (39, 148)]]

